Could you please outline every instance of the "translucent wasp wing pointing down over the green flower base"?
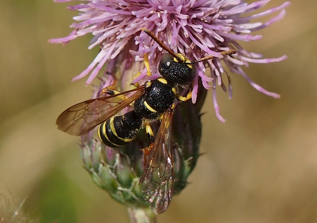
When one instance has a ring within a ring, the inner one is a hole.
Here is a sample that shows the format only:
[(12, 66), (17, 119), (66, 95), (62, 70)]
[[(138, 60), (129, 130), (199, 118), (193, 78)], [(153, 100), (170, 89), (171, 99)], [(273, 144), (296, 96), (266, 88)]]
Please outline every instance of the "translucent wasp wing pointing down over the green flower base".
[(154, 213), (160, 214), (169, 206), (174, 190), (171, 125), (173, 111), (164, 113), (144, 173), (140, 178), (144, 199), (151, 202)]

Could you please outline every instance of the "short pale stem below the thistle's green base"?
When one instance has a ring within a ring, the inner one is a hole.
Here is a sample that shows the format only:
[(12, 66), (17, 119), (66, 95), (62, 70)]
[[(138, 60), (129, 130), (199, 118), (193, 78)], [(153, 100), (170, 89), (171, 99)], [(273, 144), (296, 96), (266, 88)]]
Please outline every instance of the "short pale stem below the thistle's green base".
[(131, 223), (156, 223), (156, 215), (150, 208), (128, 207)]

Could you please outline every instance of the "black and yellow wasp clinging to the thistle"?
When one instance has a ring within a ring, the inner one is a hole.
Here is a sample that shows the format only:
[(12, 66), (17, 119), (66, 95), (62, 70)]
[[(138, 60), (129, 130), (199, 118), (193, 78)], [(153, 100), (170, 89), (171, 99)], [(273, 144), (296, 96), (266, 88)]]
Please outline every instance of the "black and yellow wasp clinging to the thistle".
[[(71, 135), (86, 134), (100, 125), (99, 138), (110, 147), (126, 145), (136, 137), (141, 128), (146, 128), (150, 152), (139, 184), (144, 199), (151, 203), (153, 212), (163, 213), (171, 202), (174, 187), (171, 139), (173, 109), (177, 101), (184, 102), (191, 98), (191, 91), (184, 97), (180, 94), (180, 89), (190, 87), (196, 71), (193, 64), (214, 57), (191, 61), (166, 47), (150, 30), (142, 30), (168, 52), (159, 62), (158, 69), (162, 77), (121, 93), (110, 88), (103, 89), (102, 92), (110, 96), (90, 99), (66, 109), (57, 118), (56, 124), (60, 130)], [(222, 55), (234, 53), (235, 50), (221, 52)], [(144, 63), (150, 74), (146, 55)], [(125, 96), (131, 92), (131, 96)], [(133, 102), (132, 111), (114, 116)], [(149, 124), (151, 120), (161, 120), (155, 138)]]

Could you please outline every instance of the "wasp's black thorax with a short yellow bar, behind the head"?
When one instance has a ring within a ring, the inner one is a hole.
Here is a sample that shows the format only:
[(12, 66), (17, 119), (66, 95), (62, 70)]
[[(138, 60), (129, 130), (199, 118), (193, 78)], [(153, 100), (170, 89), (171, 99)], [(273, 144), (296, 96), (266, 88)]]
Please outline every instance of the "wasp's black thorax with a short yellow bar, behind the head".
[(146, 93), (134, 102), (135, 111), (146, 119), (157, 119), (176, 100), (171, 86), (164, 78), (153, 80)]

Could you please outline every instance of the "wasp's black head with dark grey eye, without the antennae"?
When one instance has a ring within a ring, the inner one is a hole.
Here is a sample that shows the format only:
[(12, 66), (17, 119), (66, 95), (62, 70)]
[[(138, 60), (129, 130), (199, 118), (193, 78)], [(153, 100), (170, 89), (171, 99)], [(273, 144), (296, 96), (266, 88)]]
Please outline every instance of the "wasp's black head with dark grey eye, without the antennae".
[(175, 84), (188, 85), (194, 79), (195, 69), (191, 64), (178, 62), (171, 54), (165, 53), (159, 63), (159, 73)]

